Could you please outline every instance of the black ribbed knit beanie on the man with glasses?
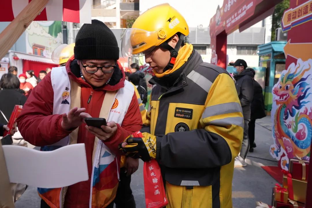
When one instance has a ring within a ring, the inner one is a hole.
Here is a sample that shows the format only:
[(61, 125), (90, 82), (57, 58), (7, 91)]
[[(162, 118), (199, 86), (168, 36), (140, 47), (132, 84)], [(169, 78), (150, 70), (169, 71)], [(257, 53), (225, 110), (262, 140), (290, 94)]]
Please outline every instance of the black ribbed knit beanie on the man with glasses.
[(84, 24), (77, 33), (75, 59), (119, 59), (119, 47), (114, 33), (101, 21)]

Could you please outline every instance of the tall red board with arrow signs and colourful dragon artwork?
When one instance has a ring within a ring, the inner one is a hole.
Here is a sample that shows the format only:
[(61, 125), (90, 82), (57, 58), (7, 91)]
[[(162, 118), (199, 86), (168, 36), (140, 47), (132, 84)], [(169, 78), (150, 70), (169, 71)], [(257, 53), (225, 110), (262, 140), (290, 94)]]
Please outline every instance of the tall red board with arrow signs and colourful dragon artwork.
[(274, 144), (270, 147), (270, 154), (285, 170), (289, 168), (290, 159), (300, 157), (310, 161), (311, 157), (312, 13), (301, 13), (308, 6), (312, 8), (312, 0), (291, 0), (281, 24), (282, 30), (288, 31), (284, 47), (287, 70), (282, 71), (272, 89)]

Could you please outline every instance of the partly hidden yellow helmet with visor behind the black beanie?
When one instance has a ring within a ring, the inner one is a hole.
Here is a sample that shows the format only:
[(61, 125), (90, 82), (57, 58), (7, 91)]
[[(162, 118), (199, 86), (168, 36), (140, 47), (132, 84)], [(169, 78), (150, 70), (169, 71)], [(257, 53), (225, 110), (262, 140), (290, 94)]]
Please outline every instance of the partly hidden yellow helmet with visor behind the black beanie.
[(75, 43), (62, 44), (58, 46), (52, 53), (52, 60), (57, 64), (65, 64), (68, 59), (74, 55)]

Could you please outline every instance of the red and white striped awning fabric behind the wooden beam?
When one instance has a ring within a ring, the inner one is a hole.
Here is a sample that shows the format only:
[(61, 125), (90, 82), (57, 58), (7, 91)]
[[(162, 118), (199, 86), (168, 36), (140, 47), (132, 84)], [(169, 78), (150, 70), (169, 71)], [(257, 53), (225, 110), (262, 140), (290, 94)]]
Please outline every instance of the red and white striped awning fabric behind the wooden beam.
[[(1, 0), (0, 21), (12, 21), (31, 0)], [(49, 0), (34, 21), (91, 23), (91, 0)]]

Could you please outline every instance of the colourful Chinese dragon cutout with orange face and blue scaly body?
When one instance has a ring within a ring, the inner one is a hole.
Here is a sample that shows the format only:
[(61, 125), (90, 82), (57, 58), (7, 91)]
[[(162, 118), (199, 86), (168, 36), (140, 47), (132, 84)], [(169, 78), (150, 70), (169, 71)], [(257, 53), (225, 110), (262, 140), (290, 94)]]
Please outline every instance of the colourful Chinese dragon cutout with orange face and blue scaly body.
[(310, 160), (312, 137), (312, 59), (290, 64), (272, 89), (272, 130), (270, 154), (288, 170), (290, 158)]

